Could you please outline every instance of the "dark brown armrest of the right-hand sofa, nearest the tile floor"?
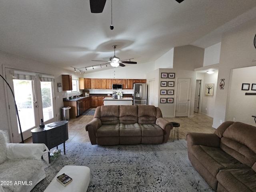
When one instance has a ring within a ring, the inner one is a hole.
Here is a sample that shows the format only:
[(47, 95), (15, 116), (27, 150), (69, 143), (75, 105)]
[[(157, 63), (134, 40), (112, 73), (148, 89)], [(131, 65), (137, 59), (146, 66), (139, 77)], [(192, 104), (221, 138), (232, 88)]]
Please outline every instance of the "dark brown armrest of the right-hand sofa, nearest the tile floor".
[(220, 147), (220, 138), (214, 133), (192, 133), (187, 134), (188, 148), (193, 145), (204, 145), (209, 147)]

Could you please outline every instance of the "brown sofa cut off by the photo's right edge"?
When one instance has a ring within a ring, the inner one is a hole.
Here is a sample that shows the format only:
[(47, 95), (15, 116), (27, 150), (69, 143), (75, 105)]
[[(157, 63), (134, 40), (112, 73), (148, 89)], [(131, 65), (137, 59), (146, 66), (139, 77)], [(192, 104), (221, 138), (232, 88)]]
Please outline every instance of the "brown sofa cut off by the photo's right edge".
[(188, 158), (218, 192), (256, 192), (256, 127), (222, 123), (213, 134), (188, 133)]

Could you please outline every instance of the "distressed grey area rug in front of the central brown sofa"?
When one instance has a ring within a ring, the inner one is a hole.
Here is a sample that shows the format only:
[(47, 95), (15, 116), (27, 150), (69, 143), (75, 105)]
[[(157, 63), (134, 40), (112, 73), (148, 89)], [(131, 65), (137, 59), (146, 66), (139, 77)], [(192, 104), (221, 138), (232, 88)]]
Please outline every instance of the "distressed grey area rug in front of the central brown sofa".
[(186, 146), (186, 140), (158, 145), (66, 143), (66, 154), (62, 151), (45, 168), (46, 178), (32, 192), (44, 191), (65, 165), (90, 168), (88, 192), (213, 192), (192, 167)]

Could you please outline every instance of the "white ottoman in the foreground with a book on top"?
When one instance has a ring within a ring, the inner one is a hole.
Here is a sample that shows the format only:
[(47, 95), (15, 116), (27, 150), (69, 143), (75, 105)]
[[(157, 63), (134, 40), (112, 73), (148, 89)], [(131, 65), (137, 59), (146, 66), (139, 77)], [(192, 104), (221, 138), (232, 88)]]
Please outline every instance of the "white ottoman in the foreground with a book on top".
[[(61, 174), (67, 174), (73, 181), (66, 187), (60, 184), (56, 177)], [(86, 192), (90, 183), (90, 168), (86, 166), (64, 166), (53, 178), (52, 182), (44, 190), (44, 192)]]

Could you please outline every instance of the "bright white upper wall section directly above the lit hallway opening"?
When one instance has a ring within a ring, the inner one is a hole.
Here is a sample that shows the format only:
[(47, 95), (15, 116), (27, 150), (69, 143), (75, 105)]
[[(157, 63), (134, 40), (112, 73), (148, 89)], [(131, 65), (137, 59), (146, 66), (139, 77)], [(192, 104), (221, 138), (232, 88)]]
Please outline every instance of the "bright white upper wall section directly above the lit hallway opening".
[(221, 42), (204, 49), (204, 66), (220, 62), (220, 47)]

